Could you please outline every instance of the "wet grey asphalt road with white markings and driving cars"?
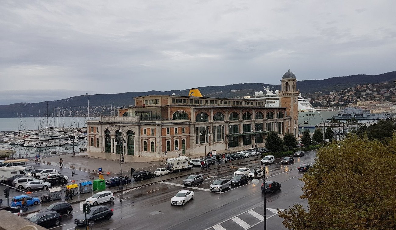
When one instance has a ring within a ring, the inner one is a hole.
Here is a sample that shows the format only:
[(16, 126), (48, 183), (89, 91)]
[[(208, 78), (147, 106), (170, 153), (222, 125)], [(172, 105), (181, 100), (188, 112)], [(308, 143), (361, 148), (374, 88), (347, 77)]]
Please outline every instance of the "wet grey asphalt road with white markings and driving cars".
[[(314, 154), (315, 151), (311, 151), (305, 156), (295, 158), (295, 163), (291, 165), (281, 165), (278, 159), (276, 163), (266, 166), (267, 180), (277, 181), (282, 185), (282, 191), (266, 196), (268, 229), (284, 228), (282, 219), (272, 209), (287, 209), (294, 202), (307, 205), (306, 200), (299, 199), (303, 183), (298, 179), (303, 172), (299, 172), (297, 167), (301, 163), (313, 163)], [(261, 194), (261, 181), (259, 185), (253, 185), (249, 181), (247, 185), (232, 187), (221, 193), (208, 191), (209, 185), (215, 179), (232, 178), (234, 171), (246, 166), (253, 169), (261, 166), (261, 163), (257, 159), (237, 166), (204, 171), (208, 173), (204, 177), (204, 184), (194, 188), (184, 187), (184, 178), (178, 178), (116, 194), (114, 202), (105, 203), (114, 209), (112, 218), (109, 221), (96, 221), (91, 229), (263, 229), (264, 196)], [(63, 170), (69, 176), (70, 169)], [(194, 168), (194, 172), (199, 173), (201, 170)], [(81, 172), (77, 177), (75, 174), (74, 179), (86, 180), (87, 176), (90, 173)], [(71, 178), (71, 170), (69, 177)], [(194, 200), (184, 206), (170, 205), (173, 194), (183, 189), (194, 191)], [(62, 225), (53, 229), (84, 229), (74, 224), (74, 217), (82, 213), (79, 211), (80, 204), (74, 204), (73, 208), (72, 214), (63, 215)]]

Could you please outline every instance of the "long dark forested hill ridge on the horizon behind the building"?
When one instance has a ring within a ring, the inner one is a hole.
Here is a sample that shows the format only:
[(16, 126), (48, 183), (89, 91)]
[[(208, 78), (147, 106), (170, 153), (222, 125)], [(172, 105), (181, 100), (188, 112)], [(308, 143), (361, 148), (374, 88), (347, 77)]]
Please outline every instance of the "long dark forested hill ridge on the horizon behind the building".
[[(298, 77), (297, 77), (298, 80)], [(396, 80), (396, 72), (388, 72), (379, 75), (351, 75), (343, 77), (331, 77), (323, 80), (305, 80), (297, 82), (297, 89), (303, 93), (303, 96), (310, 97), (314, 92), (333, 91), (354, 87), (358, 84), (380, 83), (385, 81)], [(279, 85), (268, 85), (265, 83), (243, 83), (225, 86), (208, 86), (200, 87), (202, 95), (215, 98), (229, 98), (234, 96), (251, 96), (255, 91), (263, 90), (261, 84), (271, 89), (279, 89)], [(49, 114), (58, 113), (63, 116), (70, 114), (72, 116), (84, 116), (87, 113), (88, 99), (90, 116), (95, 116), (95, 110), (98, 115), (110, 115), (110, 106), (129, 107), (133, 106), (133, 97), (144, 95), (188, 95), (189, 89), (169, 90), (169, 91), (148, 91), (148, 92), (125, 92), (120, 94), (95, 94), (87, 96), (75, 96), (58, 101), (48, 102)], [(56, 110), (55, 110), (56, 109)], [(23, 117), (46, 116), (47, 102), (40, 103), (16, 103), (10, 105), (0, 105), (0, 117)], [(56, 116), (56, 115), (55, 115)]]

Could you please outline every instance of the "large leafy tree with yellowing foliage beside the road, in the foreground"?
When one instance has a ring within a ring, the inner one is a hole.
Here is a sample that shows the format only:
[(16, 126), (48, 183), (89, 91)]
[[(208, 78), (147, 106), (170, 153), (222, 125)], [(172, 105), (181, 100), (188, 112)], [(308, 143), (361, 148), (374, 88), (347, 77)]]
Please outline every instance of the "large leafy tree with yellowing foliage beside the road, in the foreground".
[(302, 199), (278, 211), (286, 228), (396, 229), (396, 133), (384, 145), (367, 136), (349, 136), (316, 154), (314, 168), (300, 179)]

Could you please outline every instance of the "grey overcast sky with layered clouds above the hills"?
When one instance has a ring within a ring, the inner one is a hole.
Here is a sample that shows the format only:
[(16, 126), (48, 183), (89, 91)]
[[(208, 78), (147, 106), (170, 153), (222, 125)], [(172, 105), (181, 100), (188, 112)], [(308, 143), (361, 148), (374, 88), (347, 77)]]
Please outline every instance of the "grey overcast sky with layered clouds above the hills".
[(2, 0), (0, 104), (279, 84), (288, 68), (298, 80), (390, 72), (395, 9), (394, 0)]

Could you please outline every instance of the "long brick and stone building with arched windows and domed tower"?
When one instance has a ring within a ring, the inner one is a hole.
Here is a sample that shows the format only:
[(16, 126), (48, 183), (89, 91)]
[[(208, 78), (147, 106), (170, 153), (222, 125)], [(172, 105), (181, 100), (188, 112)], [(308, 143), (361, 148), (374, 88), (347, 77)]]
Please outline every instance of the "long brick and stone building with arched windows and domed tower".
[(118, 109), (118, 117), (87, 121), (88, 152), (107, 158), (125, 153), (126, 162), (132, 156), (160, 160), (165, 153), (194, 157), (264, 146), (270, 131), (297, 136), (297, 79), (289, 70), (281, 81), (280, 107), (265, 107), (265, 98), (136, 97), (134, 107)]

